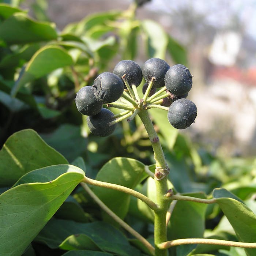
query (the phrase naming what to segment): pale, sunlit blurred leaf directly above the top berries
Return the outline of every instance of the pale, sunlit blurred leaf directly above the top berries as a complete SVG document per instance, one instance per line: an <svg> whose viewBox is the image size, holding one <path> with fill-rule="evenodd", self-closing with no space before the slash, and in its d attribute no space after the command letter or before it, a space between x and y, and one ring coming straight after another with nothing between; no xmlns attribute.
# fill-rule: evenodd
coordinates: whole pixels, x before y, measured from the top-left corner
<svg viewBox="0 0 256 256"><path fill-rule="evenodd" d="M150 58L165 59L168 35L163 28L153 20L143 20L142 30L147 37L147 54Z"/></svg>

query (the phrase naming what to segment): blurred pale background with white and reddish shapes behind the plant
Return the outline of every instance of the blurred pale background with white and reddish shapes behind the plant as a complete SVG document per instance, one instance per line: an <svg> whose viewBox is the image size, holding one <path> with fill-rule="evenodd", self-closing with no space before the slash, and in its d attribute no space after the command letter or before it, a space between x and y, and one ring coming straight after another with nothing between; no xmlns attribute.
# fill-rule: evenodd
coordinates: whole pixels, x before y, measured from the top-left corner
<svg viewBox="0 0 256 256"><path fill-rule="evenodd" d="M22 5L31 7L34 2L27 0ZM131 2L54 0L45 1L45 9L47 18L62 30L96 12L127 10ZM33 9L30 12L34 15ZM137 9L136 18L160 23L187 50L187 65L194 76L189 99L196 103L198 116L182 132L220 154L254 155L256 1L151 0ZM135 61L142 66L146 59L141 49Z"/></svg>

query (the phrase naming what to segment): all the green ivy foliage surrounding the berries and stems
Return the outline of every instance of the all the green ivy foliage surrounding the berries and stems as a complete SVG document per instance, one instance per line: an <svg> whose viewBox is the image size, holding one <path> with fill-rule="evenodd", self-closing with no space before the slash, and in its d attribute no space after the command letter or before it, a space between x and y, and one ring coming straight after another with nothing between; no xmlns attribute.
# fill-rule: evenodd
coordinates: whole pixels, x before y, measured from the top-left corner
<svg viewBox="0 0 256 256"><path fill-rule="evenodd" d="M114 59L138 57L141 41L147 59L164 59L168 53L174 63L186 64L185 49L158 23L136 19L133 4L126 11L87 16L59 32L46 21L45 1L33 5L37 19L20 9L22 1L9 2L0 3L0 255L151 255L79 185L86 173L155 202L157 188L144 172L155 167L144 126L136 117L129 125L119 123L113 135L97 138L74 98L99 72L112 71ZM216 200L209 205L177 201L168 239L255 242L255 160L224 161L178 134L166 112L152 109L151 117L170 167L169 188ZM154 212L146 204L126 193L92 189L153 243ZM255 255L255 249L169 249L173 256L245 253Z"/></svg>

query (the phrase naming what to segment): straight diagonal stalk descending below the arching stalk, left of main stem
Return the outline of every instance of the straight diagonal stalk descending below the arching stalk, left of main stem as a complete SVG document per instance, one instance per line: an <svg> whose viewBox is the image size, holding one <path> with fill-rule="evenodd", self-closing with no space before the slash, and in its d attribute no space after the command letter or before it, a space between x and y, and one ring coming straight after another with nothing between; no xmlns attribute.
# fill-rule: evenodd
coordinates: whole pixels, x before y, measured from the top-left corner
<svg viewBox="0 0 256 256"><path fill-rule="evenodd" d="M89 188L87 184L80 183L81 186L84 188L84 190L94 199L94 201L104 210L106 211L110 217L112 217L118 224L120 224L121 227L123 227L125 230L127 230L129 233L131 233L134 237L136 237L142 244L144 244L147 249L155 255L155 248L143 237L141 236L137 231L132 229L131 226L129 226L127 223L125 223L122 219L120 219L113 211L111 211L106 204L104 204L98 196L96 196L93 191Z"/></svg>

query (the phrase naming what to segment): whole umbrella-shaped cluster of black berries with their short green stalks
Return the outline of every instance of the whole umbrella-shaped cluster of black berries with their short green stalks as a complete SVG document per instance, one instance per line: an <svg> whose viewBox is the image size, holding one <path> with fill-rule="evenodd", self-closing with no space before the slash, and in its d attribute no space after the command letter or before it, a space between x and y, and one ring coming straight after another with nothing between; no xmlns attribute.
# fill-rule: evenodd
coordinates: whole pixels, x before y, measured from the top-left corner
<svg viewBox="0 0 256 256"><path fill-rule="evenodd" d="M140 99L136 87L143 78L146 83L142 89L144 97ZM112 134L118 121L157 105L168 110L167 118L173 127L185 129L197 115L196 105L187 99L191 87L192 75L184 65L170 67L164 60L152 58L141 69L132 60L122 60L113 73L103 72L92 86L82 87L76 94L75 103L78 111L88 116L88 127L97 136ZM123 103L115 104L118 100ZM109 109L103 108L104 104L126 111L114 116Z"/></svg>

